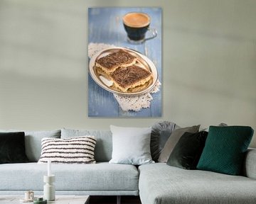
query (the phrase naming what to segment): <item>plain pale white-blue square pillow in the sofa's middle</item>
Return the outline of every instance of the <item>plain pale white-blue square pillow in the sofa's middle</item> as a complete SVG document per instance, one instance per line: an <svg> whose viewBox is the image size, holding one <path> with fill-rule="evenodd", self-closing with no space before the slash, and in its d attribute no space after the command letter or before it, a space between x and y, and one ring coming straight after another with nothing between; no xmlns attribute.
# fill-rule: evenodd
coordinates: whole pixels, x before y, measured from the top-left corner
<svg viewBox="0 0 256 204"><path fill-rule="evenodd" d="M150 154L151 128L123 128L110 125L113 140L114 164L154 163Z"/></svg>

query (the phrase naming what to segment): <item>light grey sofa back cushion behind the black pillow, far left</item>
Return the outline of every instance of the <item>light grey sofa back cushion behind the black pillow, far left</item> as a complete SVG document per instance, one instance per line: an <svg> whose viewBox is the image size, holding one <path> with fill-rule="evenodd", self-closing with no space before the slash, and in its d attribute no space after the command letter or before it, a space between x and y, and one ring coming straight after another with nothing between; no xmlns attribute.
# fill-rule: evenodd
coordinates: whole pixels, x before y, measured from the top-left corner
<svg viewBox="0 0 256 204"><path fill-rule="evenodd" d="M43 137L60 138L60 130L0 130L0 132L25 132L26 156L29 162L38 162L40 159Z"/></svg>

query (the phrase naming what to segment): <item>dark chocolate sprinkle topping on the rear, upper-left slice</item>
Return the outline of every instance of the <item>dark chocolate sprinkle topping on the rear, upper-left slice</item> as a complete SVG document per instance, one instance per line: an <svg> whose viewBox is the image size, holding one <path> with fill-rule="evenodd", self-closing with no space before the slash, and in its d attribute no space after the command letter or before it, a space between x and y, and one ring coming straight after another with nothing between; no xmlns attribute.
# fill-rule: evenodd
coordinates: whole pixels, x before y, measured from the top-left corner
<svg viewBox="0 0 256 204"><path fill-rule="evenodd" d="M119 50L118 52L113 52L110 55L97 59L96 62L102 67L112 69L113 67L119 67L122 64L132 63L135 58L136 57L130 55L128 52Z"/></svg>

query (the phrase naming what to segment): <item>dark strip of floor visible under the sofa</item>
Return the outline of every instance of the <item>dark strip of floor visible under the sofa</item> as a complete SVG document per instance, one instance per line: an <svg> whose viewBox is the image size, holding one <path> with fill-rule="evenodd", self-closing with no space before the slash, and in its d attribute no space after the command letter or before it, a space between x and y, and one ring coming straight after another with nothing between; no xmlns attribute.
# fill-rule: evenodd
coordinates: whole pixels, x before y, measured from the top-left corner
<svg viewBox="0 0 256 204"><path fill-rule="evenodd" d="M117 196L90 196L90 204L116 204ZM122 204L141 204L139 196L122 196Z"/></svg>

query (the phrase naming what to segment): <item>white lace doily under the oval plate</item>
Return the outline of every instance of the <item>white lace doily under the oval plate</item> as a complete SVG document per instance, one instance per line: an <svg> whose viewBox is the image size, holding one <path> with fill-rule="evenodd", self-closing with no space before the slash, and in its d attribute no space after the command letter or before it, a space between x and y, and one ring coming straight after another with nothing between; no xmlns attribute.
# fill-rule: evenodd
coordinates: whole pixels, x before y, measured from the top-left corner
<svg viewBox="0 0 256 204"><path fill-rule="evenodd" d="M91 58L100 50L115 47L114 45L108 45L105 43L90 43L88 45L88 56ZM139 96L120 96L118 94L113 94L114 98L117 99L119 106L122 111L140 111L142 108L149 108L150 101L153 99L151 94L156 93L160 90L161 83L159 80L156 81L156 85L151 89L150 93L142 94Z"/></svg>

